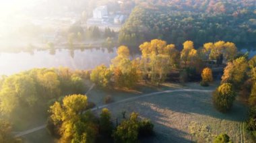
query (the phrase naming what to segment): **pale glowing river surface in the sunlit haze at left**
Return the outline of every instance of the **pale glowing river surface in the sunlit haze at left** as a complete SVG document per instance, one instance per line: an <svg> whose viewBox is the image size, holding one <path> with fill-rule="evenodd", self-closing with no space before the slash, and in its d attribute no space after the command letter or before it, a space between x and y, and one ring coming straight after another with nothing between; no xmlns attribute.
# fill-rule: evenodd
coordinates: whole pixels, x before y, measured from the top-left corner
<svg viewBox="0 0 256 143"><path fill-rule="evenodd" d="M65 66L72 69L92 69L100 64L110 64L116 56L113 50L82 49L82 50L44 50L32 53L0 53L0 75L11 75L31 68L51 68Z"/></svg>

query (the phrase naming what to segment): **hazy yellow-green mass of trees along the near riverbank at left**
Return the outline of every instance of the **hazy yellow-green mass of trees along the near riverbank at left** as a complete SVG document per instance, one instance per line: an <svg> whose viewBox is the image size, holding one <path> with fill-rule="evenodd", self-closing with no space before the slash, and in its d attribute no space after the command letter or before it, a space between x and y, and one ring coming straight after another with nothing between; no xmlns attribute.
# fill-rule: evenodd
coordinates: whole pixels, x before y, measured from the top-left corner
<svg viewBox="0 0 256 143"><path fill-rule="evenodd" d="M0 109L2 117L30 115L46 110L54 101L70 93L84 93L88 71L69 68L34 68L1 77Z"/></svg>

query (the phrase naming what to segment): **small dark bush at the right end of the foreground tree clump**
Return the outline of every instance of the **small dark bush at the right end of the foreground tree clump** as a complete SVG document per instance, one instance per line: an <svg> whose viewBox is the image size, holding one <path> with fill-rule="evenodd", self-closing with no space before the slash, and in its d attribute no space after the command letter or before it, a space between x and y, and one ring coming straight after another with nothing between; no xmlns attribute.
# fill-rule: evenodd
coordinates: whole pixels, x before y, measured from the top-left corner
<svg viewBox="0 0 256 143"><path fill-rule="evenodd" d="M153 128L154 124L150 120L143 120L139 124L139 137L151 136L154 133Z"/></svg>

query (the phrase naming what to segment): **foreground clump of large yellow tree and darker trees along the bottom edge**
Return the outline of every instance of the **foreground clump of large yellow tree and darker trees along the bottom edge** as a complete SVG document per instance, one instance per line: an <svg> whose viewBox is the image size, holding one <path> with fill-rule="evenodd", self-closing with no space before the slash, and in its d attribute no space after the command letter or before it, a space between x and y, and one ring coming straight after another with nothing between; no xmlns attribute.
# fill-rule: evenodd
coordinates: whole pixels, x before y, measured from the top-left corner
<svg viewBox="0 0 256 143"><path fill-rule="evenodd" d="M49 132L59 142L137 142L139 137L153 134L154 125L149 120L139 120L131 113L121 124L113 124L110 111L102 109L100 117L88 109L86 95L69 95L55 102L49 109L51 116L47 124ZM115 119L114 119L115 121Z"/></svg>

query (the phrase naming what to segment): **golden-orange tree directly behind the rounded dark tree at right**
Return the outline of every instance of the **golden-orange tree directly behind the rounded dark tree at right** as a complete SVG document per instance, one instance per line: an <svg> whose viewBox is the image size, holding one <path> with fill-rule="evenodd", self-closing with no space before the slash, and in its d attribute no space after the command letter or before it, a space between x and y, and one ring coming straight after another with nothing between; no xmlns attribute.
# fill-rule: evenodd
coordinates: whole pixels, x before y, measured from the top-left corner
<svg viewBox="0 0 256 143"><path fill-rule="evenodd" d="M228 65L224 68L222 83L232 83L235 87L240 87L247 79L248 69L249 66L245 57L236 58L232 62L228 62Z"/></svg>

